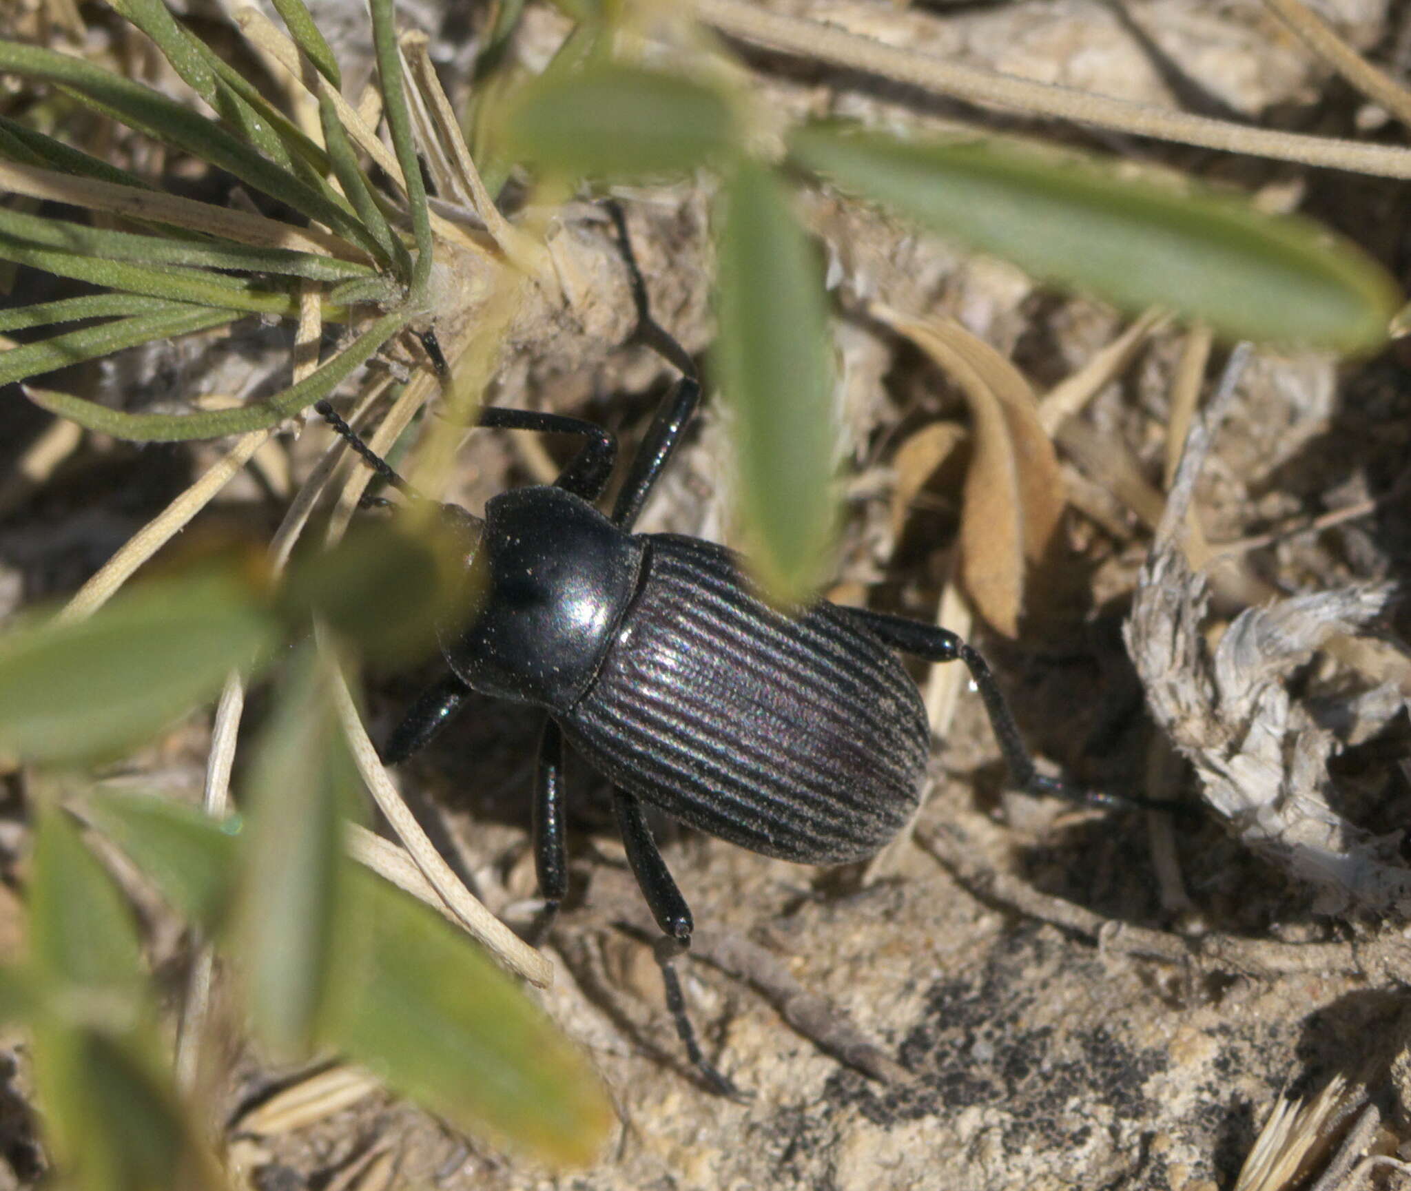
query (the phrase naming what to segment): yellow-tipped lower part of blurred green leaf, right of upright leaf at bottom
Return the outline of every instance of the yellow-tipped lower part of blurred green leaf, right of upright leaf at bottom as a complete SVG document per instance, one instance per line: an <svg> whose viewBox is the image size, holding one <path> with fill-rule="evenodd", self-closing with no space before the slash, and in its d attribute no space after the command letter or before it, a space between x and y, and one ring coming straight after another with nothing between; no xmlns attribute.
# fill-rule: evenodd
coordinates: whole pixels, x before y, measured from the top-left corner
<svg viewBox="0 0 1411 1191"><path fill-rule="evenodd" d="M439 914L361 871L350 883L339 912L358 945L327 1043L457 1127L593 1161L612 1111L583 1057Z"/></svg>

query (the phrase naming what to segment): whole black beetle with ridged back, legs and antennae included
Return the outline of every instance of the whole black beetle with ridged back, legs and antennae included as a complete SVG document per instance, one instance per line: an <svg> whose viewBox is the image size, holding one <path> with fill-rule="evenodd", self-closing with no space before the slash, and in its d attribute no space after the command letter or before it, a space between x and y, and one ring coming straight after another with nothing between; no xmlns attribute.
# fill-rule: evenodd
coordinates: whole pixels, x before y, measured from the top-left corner
<svg viewBox="0 0 1411 1191"><path fill-rule="evenodd" d="M422 748L471 690L545 708L533 847L545 910L567 892L562 738L614 783L628 861L663 931L656 947L667 1005L691 1063L718 1091L728 1078L701 1054L672 961L691 912L652 840L642 803L741 847L800 864L876 854L917 807L930 728L897 653L961 660L979 690L1015 785L1036 794L1130 802L1036 772L983 658L944 628L818 601L797 617L756 598L729 550L674 533L634 535L646 497L700 401L691 358L650 316L646 288L611 207L636 302L636 337L682 371L632 460L611 516L594 502L617 440L590 422L487 408L481 426L580 435L586 445L547 487L494 497L481 522L444 512L478 538L484 603L442 639L450 675L429 687L382 759ZM442 364L435 340L428 343ZM387 481L411 492L354 432L319 412Z"/></svg>

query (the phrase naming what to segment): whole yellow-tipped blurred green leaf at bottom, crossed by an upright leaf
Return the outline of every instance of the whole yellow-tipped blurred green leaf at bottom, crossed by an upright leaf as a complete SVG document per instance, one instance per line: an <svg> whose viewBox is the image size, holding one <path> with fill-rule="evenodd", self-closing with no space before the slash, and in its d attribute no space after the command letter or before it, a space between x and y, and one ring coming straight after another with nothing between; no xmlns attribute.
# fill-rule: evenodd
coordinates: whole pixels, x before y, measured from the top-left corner
<svg viewBox="0 0 1411 1191"><path fill-rule="evenodd" d="M209 873L234 864L234 838L158 799L103 794L89 813L176 905L209 905L223 885ZM601 1087L478 947L361 869L336 912L344 944L320 1017L330 1046L457 1126L552 1160L595 1156L612 1119Z"/></svg>

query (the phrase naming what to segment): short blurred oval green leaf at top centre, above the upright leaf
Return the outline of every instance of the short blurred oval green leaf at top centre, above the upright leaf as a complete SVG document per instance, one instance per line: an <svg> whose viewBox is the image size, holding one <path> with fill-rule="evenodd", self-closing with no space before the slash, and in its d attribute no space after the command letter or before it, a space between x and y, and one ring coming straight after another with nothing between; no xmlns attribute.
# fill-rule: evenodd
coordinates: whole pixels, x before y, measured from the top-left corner
<svg viewBox="0 0 1411 1191"><path fill-rule="evenodd" d="M614 181L683 174L727 157L729 104L680 75L591 61L546 71L505 113L508 148L542 169Z"/></svg>

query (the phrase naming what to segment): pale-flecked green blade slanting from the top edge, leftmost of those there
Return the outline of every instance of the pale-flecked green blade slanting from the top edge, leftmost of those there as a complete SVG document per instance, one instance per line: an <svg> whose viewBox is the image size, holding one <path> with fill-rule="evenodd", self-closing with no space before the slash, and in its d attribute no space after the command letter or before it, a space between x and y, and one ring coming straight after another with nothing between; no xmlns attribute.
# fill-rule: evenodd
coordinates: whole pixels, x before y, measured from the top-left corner
<svg viewBox="0 0 1411 1191"><path fill-rule="evenodd" d="M147 34L182 80L220 117L277 165L317 186L310 159L323 154L248 79L223 62L200 38L178 24L164 0L111 0L113 7ZM298 150L291 148L292 145ZM326 164L326 162L322 162Z"/></svg>

